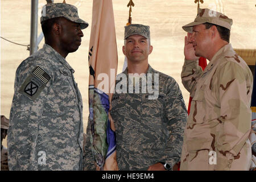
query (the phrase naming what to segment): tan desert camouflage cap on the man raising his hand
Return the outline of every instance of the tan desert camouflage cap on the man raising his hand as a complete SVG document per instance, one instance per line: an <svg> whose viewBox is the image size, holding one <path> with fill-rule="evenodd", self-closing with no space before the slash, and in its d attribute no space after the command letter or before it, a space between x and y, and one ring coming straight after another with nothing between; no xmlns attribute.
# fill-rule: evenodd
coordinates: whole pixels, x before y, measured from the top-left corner
<svg viewBox="0 0 256 182"><path fill-rule="evenodd" d="M213 11L210 9L199 9L199 13L197 14L194 22L188 23L184 25L182 28L186 32L192 33L193 26L207 22L217 24L218 26L225 27L228 28L228 30L231 30L233 20L228 18L228 16L217 11Z"/></svg>

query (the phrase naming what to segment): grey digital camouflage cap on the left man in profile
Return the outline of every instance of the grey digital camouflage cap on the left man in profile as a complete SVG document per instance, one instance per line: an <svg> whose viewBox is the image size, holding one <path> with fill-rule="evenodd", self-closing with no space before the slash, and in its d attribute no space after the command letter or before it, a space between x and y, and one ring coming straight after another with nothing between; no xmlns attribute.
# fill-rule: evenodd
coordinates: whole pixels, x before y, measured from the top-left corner
<svg viewBox="0 0 256 182"><path fill-rule="evenodd" d="M64 17L71 22L80 23L81 29L88 27L88 23L79 18L76 6L66 3L48 3L42 8L40 22L51 18Z"/></svg>

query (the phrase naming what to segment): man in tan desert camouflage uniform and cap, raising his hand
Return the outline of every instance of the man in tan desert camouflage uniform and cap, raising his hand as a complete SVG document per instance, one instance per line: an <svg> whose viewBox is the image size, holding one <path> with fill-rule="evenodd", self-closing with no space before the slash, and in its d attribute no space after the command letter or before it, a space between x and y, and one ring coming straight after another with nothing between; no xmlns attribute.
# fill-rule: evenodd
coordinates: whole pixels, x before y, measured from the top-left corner
<svg viewBox="0 0 256 182"><path fill-rule="evenodd" d="M181 78L193 97L185 127L181 170L248 170L251 162L249 67L229 44L232 19L199 9L183 26L185 62ZM210 62L202 71L197 56Z"/></svg>

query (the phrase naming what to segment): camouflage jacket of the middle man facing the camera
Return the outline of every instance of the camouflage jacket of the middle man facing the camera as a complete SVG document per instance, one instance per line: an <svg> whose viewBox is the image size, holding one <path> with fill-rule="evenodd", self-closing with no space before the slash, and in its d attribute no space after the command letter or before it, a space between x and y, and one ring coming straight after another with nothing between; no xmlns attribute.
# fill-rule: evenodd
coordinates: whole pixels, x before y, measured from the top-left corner
<svg viewBox="0 0 256 182"><path fill-rule="evenodd" d="M123 73L129 77L127 69ZM142 92L142 82L137 82L139 93L127 88L127 93L115 93L112 98L110 114L115 125L119 170L146 170L158 162L172 167L180 160L187 109L179 85L150 65L148 73L152 74L152 87L158 91L155 99L149 99L152 93L148 88Z"/></svg>

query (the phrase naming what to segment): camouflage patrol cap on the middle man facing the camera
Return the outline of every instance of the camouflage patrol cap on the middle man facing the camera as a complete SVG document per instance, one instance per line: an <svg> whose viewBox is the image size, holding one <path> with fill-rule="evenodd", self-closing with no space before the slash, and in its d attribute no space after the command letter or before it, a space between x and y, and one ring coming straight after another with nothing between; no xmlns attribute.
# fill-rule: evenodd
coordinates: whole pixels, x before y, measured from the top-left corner
<svg viewBox="0 0 256 182"><path fill-rule="evenodd" d="M146 39L150 39L150 26L143 24L129 24L129 26L125 26L125 39L131 35L141 35Z"/></svg>

